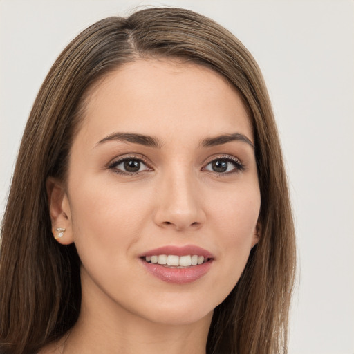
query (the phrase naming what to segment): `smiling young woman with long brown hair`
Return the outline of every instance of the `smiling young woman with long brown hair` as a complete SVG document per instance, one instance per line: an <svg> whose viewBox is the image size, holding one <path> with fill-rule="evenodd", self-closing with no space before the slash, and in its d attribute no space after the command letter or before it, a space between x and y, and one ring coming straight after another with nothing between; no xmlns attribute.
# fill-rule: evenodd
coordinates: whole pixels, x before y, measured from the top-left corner
<svg viewBox="0 0 354 354"><path fill-rule="evenodd" d="M4 353L286 352L294 230L250 53L176 8L84 30L30 113L2 235Z"/></svg>

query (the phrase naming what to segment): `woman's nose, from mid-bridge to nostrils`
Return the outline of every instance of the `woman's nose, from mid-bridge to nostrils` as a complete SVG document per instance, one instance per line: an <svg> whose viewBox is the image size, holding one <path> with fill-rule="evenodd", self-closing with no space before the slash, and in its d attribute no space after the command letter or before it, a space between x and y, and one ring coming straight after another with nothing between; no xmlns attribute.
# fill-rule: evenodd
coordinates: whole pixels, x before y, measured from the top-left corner
<svg viewBox="0 0 354 354"><path fill-rule="evenodd" d="M196 230L206 220L198 183L193 176L166 176L159 183L154 222L159 227L176 231Z"/></svg>

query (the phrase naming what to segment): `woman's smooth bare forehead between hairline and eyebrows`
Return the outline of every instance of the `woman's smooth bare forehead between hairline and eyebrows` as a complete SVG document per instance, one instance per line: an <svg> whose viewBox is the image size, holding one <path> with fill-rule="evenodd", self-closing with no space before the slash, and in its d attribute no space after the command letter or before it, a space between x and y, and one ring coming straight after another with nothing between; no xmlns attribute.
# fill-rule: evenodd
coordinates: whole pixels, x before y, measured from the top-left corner
<svg viewBox="0 0 354 354"><path fill-rule="evenodd" d="M113 131L173 138L188 131L235 130L252 139L248 112L222 75L176 59L139 59L97 82L86 96L80 133L98 141Z"/></svg>

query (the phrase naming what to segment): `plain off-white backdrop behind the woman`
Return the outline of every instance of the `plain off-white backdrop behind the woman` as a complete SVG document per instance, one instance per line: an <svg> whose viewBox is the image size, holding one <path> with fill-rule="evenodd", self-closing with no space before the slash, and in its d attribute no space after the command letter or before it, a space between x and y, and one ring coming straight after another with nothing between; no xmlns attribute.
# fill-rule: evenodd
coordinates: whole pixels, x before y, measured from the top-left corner
<svg viewBox="0 0 354 354"><path fill-rule="evenodd" d="M0 1L0 215L24 124L57 55L94 21L146 5L212 17L261 66L297 228L289 353L353 354L353 1Z"/></svg>

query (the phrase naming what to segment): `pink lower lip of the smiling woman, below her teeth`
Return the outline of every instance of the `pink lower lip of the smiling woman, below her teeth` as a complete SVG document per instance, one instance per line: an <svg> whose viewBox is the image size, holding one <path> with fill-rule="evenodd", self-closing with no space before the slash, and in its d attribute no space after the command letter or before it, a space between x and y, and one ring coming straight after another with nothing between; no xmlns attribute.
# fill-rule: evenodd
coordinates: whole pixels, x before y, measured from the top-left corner
<svg viewBox="0 0 354 354"><path fill-rule="evenodd" d="M167 283L186 284L192 283L203 277L209 271L212 260L189 268L168 268L160 264L147 263L141 260L145 268L158 279Z"/></svg>

